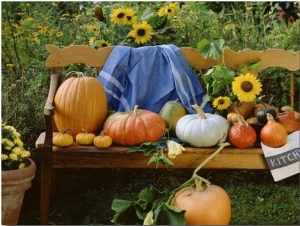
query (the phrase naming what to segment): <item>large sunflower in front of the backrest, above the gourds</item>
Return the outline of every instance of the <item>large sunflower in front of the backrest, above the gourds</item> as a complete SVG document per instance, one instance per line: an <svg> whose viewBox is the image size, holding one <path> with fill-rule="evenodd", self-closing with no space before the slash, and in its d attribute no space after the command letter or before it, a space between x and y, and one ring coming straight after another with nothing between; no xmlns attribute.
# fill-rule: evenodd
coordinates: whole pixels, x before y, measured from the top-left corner
<svg viewBox="0 0 300 226"><path fill-rule="evenodd" d="M254 101L256 95L262 91L260 81L250 73L241 74L232 82L232 91L237 95L239 101Z"/></svg>

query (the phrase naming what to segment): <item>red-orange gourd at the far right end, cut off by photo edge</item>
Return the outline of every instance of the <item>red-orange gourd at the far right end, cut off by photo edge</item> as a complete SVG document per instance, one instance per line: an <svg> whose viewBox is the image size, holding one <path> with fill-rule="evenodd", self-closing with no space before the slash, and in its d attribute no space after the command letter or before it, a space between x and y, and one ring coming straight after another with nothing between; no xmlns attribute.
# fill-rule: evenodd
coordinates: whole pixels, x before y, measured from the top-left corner
<svg viewBox="0 0 300 226"><path fill-rule="evenodd" d="M278 122L284 126L287 133L290 134L300 129L300 124L295 117L293 109L290 106L281 108L284 113L278 114Z"/></svg>

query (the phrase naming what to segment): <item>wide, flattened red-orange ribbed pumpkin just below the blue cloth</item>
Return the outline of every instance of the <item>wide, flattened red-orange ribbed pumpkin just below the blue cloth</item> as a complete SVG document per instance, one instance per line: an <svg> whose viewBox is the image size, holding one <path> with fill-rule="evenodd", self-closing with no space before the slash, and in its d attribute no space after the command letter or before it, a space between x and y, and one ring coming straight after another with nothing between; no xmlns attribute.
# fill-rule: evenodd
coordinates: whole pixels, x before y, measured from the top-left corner
<svg viewBox="0 0 300 226"><path fill-rule="evenodd" d="M113 113L103 126L114 143L128 146L157 141L165 129L166 123L159 114L138 109L138 105L130 111Z"/></svg>

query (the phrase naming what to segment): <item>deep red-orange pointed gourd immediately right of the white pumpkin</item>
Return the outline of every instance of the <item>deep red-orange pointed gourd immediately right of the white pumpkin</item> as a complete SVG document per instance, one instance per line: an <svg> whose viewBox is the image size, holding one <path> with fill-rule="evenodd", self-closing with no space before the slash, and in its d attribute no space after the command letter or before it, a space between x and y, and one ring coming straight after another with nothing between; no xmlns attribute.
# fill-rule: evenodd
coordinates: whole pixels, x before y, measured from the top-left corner
<svg viewBox="0 0 300 226"><path fill-rule="evenodd" d="M228 139L237 148L247 148L256 141L256 132L240 115L238 123L234 124L228 132Z"/></svg>

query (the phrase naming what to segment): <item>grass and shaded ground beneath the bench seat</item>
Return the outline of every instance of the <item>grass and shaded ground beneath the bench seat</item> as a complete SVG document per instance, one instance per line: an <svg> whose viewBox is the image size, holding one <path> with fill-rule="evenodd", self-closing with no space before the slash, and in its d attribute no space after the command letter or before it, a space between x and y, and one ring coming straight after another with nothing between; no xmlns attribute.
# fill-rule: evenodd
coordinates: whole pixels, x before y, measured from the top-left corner
<svg viewBox="0 0 300 226"><path fill-rule="evenodd" d="M192 169L61 169L51 224L112 224L115 198L135 200L145 187L175 187ZM231 225L299 225L299 175L274 182L268 170L201 170L232 202ZM27 191L19 224L39 224L39 176Z"/></svg>

